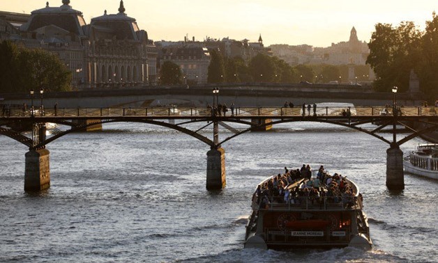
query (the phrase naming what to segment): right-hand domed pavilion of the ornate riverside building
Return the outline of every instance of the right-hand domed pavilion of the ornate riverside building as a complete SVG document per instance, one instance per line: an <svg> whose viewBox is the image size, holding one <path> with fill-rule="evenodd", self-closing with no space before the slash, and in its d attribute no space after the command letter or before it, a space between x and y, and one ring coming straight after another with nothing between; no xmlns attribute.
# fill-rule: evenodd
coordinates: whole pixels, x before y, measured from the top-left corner
<svg viewBox="0 0 438 263"><path fill-rule="evenodd" d="M91 19L87 34L91 74L97 86L128 86L153 81L148 74L147 54L152 43L146 31L138 28L135 19L126 15L123 1L120 1L119 13L109 15L105 10L104 15ZM151 71L156 72L156 64L150 66Z"/></svg>

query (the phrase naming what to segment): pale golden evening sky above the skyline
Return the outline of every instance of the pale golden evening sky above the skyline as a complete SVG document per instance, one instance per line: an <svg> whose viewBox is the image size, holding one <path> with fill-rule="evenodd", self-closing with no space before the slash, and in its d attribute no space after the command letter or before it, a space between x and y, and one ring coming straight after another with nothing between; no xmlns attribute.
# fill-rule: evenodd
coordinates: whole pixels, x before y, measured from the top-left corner
<svg viewBox="0 0 438 263"><path fill-rule="evenodd" d="M45 7L47 0L0 0L0 10L31 13ZM61 6L61 0L48 0ZM92 17L118 13L119 0L70 0L70 6ZM377 23L398 25L413 21L424 29L432 19L434 0L124 0L126 14L137 19L140 29L153 40L196 40L210 38L257 41L264 45L308 44L328 47L349 40L352 27L358 39L368 42Z"/></svg>

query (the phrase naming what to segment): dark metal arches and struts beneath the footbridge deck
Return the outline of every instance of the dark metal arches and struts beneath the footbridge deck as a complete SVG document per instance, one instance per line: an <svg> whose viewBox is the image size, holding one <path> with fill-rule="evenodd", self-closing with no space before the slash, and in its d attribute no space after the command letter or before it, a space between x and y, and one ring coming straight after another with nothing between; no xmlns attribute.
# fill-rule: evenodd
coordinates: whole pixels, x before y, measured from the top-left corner
<svg viewBox="0 0 438 263"><path fill-rule="evenodd" d="M272 118L272 122L267 123L260 123L260 122L252 122L251 120L260 120L260 119L266 119L266 118ZM167 127L169 129L174 129L176 131L181 131L183 134L187 134L189 136L192 136L194 138L197 138L199 141L202 141L203 143L206 143L211 148L219 148L220 145L223 143L231 140L232 138L235 138L236 136L240 136L241 134L245 134L246 132L250 131L254 127L265 127L266 125L277 125L280 123L287 123L287 122L323 122L323 123L329 123L331 125L339 125L342 127L348 127L350 129L356 129L357 131L364 132L365 134L369 134L370 136L374 136L375 138L378 138L381 141L384 141L385 143L388 143L389 145L394 145L394 143L398 146L402 145L403 143L406 143L407 141L411 140L412 138L415 138L417 136L421 136L422 134L426 134L430 131L434 131L435 129L438 129L438 116L428 116L428 117L411 117L411 116L400 116L397 117L395 120L391 116L373 116L364 118L361 117L352 117L352 118L327 118L326 116L295 116L295 117L283 117L278 118L276 116L252 116L248 118L248 116L245 117L233 117L233 116L205 116L205 117L196 117L196 118L159 118L159 119L153 119L153 118L130 118L130 117L120 117L120 118L89 118L89 120L96 120L91 121L88 123L84 123L82 125L79 125L75 122L70 121L71 118L47 118L45 121L47 122L53 122L60 125L68 125L71 127L71 129L61 131L54 129L55 132L52 133L52 136L50 138L43 138L43 141L36 141L33 138L29 138L28 136L25 136L22 134L21 131L15 130L12 128L6 128L6 126L9 125L9 123L6 121L1 122L0 125L0 134L4 136L8 136L10 138L13 138L15 141L18 141L24 145L27 145L30 150L36 150L45 148L45 145L48 143L51 143L52 141L56 140L57 138L60 138L66 134L70 134L75 131L83 130L86 127L93 126L93 125L99 125L104 123L111 123L111 122L139 122L139 123L147 123L151 125L158 125L161 127ZM171 120L181 120L179 123L174 123L174 121ZM38 122L35 120L27 120L33 127L38 126ZM167 122L166 122L167 121ZM409 126L410 122L421 122L423 124L423 127L421 129L414 129L413 127ZM192 124L195 122L207 122L206 125L203 125L199 129L192 130L188 129L186 127L183 127L183 125ZM228 125L227 123L235 123L240 125L248 125L250 127L246 129L235 129L232 126ZM384 127L391 126L395 122L396 125L401 125L402 127L405 127L407 131L411 131L411 134L408 136L405 136L405 138L400 139L397 142L392 142L383 136L379 135L378 133L384 129ZM377 127L374 129L365 129L361 127L361 125L369 124L369 123L378 123ZM213 140L207 138L206 136L199 134L199 131L202 131L202 129L205 129L206 127L209 127L211 125L220 125L222 127L225 127L226 129L229 129L229 131L232 131L232 135L228 136L227 138L223 139L222 141L216 141L214 138ZM49 129L47 129L49 130ZM387 129L386 131L390 131L391 129ZM392 131L396 132L396 131ZM214 137L214 134L213 134Z"/></svg>

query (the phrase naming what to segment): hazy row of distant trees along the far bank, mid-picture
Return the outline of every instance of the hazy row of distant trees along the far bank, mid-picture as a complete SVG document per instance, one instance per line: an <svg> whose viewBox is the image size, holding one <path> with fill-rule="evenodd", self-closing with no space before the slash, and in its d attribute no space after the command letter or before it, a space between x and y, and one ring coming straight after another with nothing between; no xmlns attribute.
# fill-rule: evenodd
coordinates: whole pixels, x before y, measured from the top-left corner
<svg viewBox="0 0 438 263"><path fill-rule="evenodd" d="M347 83L347 65L296 65L291 66L276 56L257 54L249 63L240 57L224 58L216 49L210 51L208 83ZM369 66L356 65L357 81L368 81ZM179 65L165 61L160 69L160 83L164 85L182 84L183 72Z"/></svg>

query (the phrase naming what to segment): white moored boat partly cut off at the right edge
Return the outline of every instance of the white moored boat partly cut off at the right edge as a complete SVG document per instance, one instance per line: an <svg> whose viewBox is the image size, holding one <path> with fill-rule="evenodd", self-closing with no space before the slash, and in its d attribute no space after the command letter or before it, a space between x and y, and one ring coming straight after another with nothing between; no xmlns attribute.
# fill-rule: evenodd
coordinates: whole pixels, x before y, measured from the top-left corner
<svg viewBox="0 0 438 263"><path fill-rule="evenodd" d="M403 158L405 172L438 180L438 144L421 144Z"/></svg>

